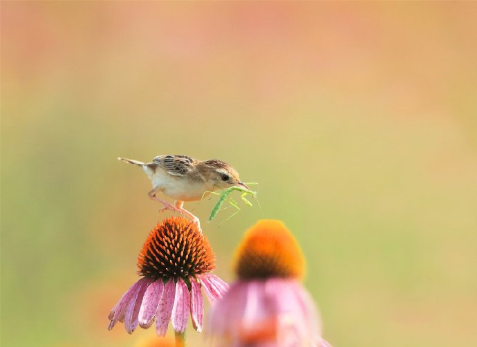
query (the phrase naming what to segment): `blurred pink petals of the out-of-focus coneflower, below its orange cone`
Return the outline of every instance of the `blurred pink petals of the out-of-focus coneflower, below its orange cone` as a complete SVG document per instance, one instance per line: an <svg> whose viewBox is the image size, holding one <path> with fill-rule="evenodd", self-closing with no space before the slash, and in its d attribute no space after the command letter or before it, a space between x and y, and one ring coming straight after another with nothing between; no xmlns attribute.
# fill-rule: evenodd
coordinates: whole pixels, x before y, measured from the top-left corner
<svg viewBox="0 0 477 347"><path fill-rule="evenodd" d="M237 281L212 308L212 335L234 346L314 346L321 341L314 303L294 279Z"/></svg>

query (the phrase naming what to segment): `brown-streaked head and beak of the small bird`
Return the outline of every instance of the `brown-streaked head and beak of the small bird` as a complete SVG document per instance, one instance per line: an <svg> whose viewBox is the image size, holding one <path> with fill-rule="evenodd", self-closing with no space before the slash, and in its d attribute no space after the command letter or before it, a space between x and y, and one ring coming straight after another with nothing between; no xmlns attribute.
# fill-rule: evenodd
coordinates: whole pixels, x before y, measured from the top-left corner
<svg viewBox="0 0 477 347"><path fill-rule="evenodd" d="M220 189L230 187L241 187L249 189L245 183L241 182L236 169L221 160L211 159L201 162L203 165L203 176L205 179Z"/></svg>

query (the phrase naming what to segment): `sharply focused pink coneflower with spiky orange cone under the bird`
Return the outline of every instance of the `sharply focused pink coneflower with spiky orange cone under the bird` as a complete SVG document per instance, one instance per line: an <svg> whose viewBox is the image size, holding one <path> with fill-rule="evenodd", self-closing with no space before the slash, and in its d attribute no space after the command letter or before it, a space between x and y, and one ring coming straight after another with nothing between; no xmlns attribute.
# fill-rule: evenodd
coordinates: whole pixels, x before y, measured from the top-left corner
<svg viewBox="0 0 477 347"><path fill-rule="evenodd" d="M166 218L147 236L138 256L142 276L109 313L109 330L118 321L130 334L138 326L149 328L156 319L156 333L165 336L169 321L176 335L183 334L189 319L203 328L202 289L211 303L228 285L212 274L215 257L207 238L185 218Z"/></svg>

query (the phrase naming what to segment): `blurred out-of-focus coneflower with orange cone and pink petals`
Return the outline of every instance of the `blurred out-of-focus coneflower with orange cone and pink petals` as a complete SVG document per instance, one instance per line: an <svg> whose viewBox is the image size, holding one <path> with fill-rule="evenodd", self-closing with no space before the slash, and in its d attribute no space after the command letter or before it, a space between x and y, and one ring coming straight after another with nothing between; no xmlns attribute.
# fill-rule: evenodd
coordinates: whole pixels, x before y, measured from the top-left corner
<svg viewBox="0 0 477 347"><path fill-rule="evenodd" d="M219 346L329 346L310 294L301 285L305 262L280 221L259 221L236 252L238 280L212 308L210 332Z"/></svg>

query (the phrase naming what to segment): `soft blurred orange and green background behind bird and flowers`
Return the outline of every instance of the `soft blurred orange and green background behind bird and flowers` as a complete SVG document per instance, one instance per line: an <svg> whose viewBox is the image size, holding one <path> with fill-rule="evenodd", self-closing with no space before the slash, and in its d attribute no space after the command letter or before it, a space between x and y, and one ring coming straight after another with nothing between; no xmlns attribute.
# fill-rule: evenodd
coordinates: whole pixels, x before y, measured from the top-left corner
<svg viewBox="0 0 477 347"><path fill-rule="evenodd" d="M106 330L162 218L116 157L167 153L260 183L261 209L203 222L224 279L245 229L279 218L335 346L477 346L476 18L475 2L2 1L2 346L153 336Z"/></svg>

